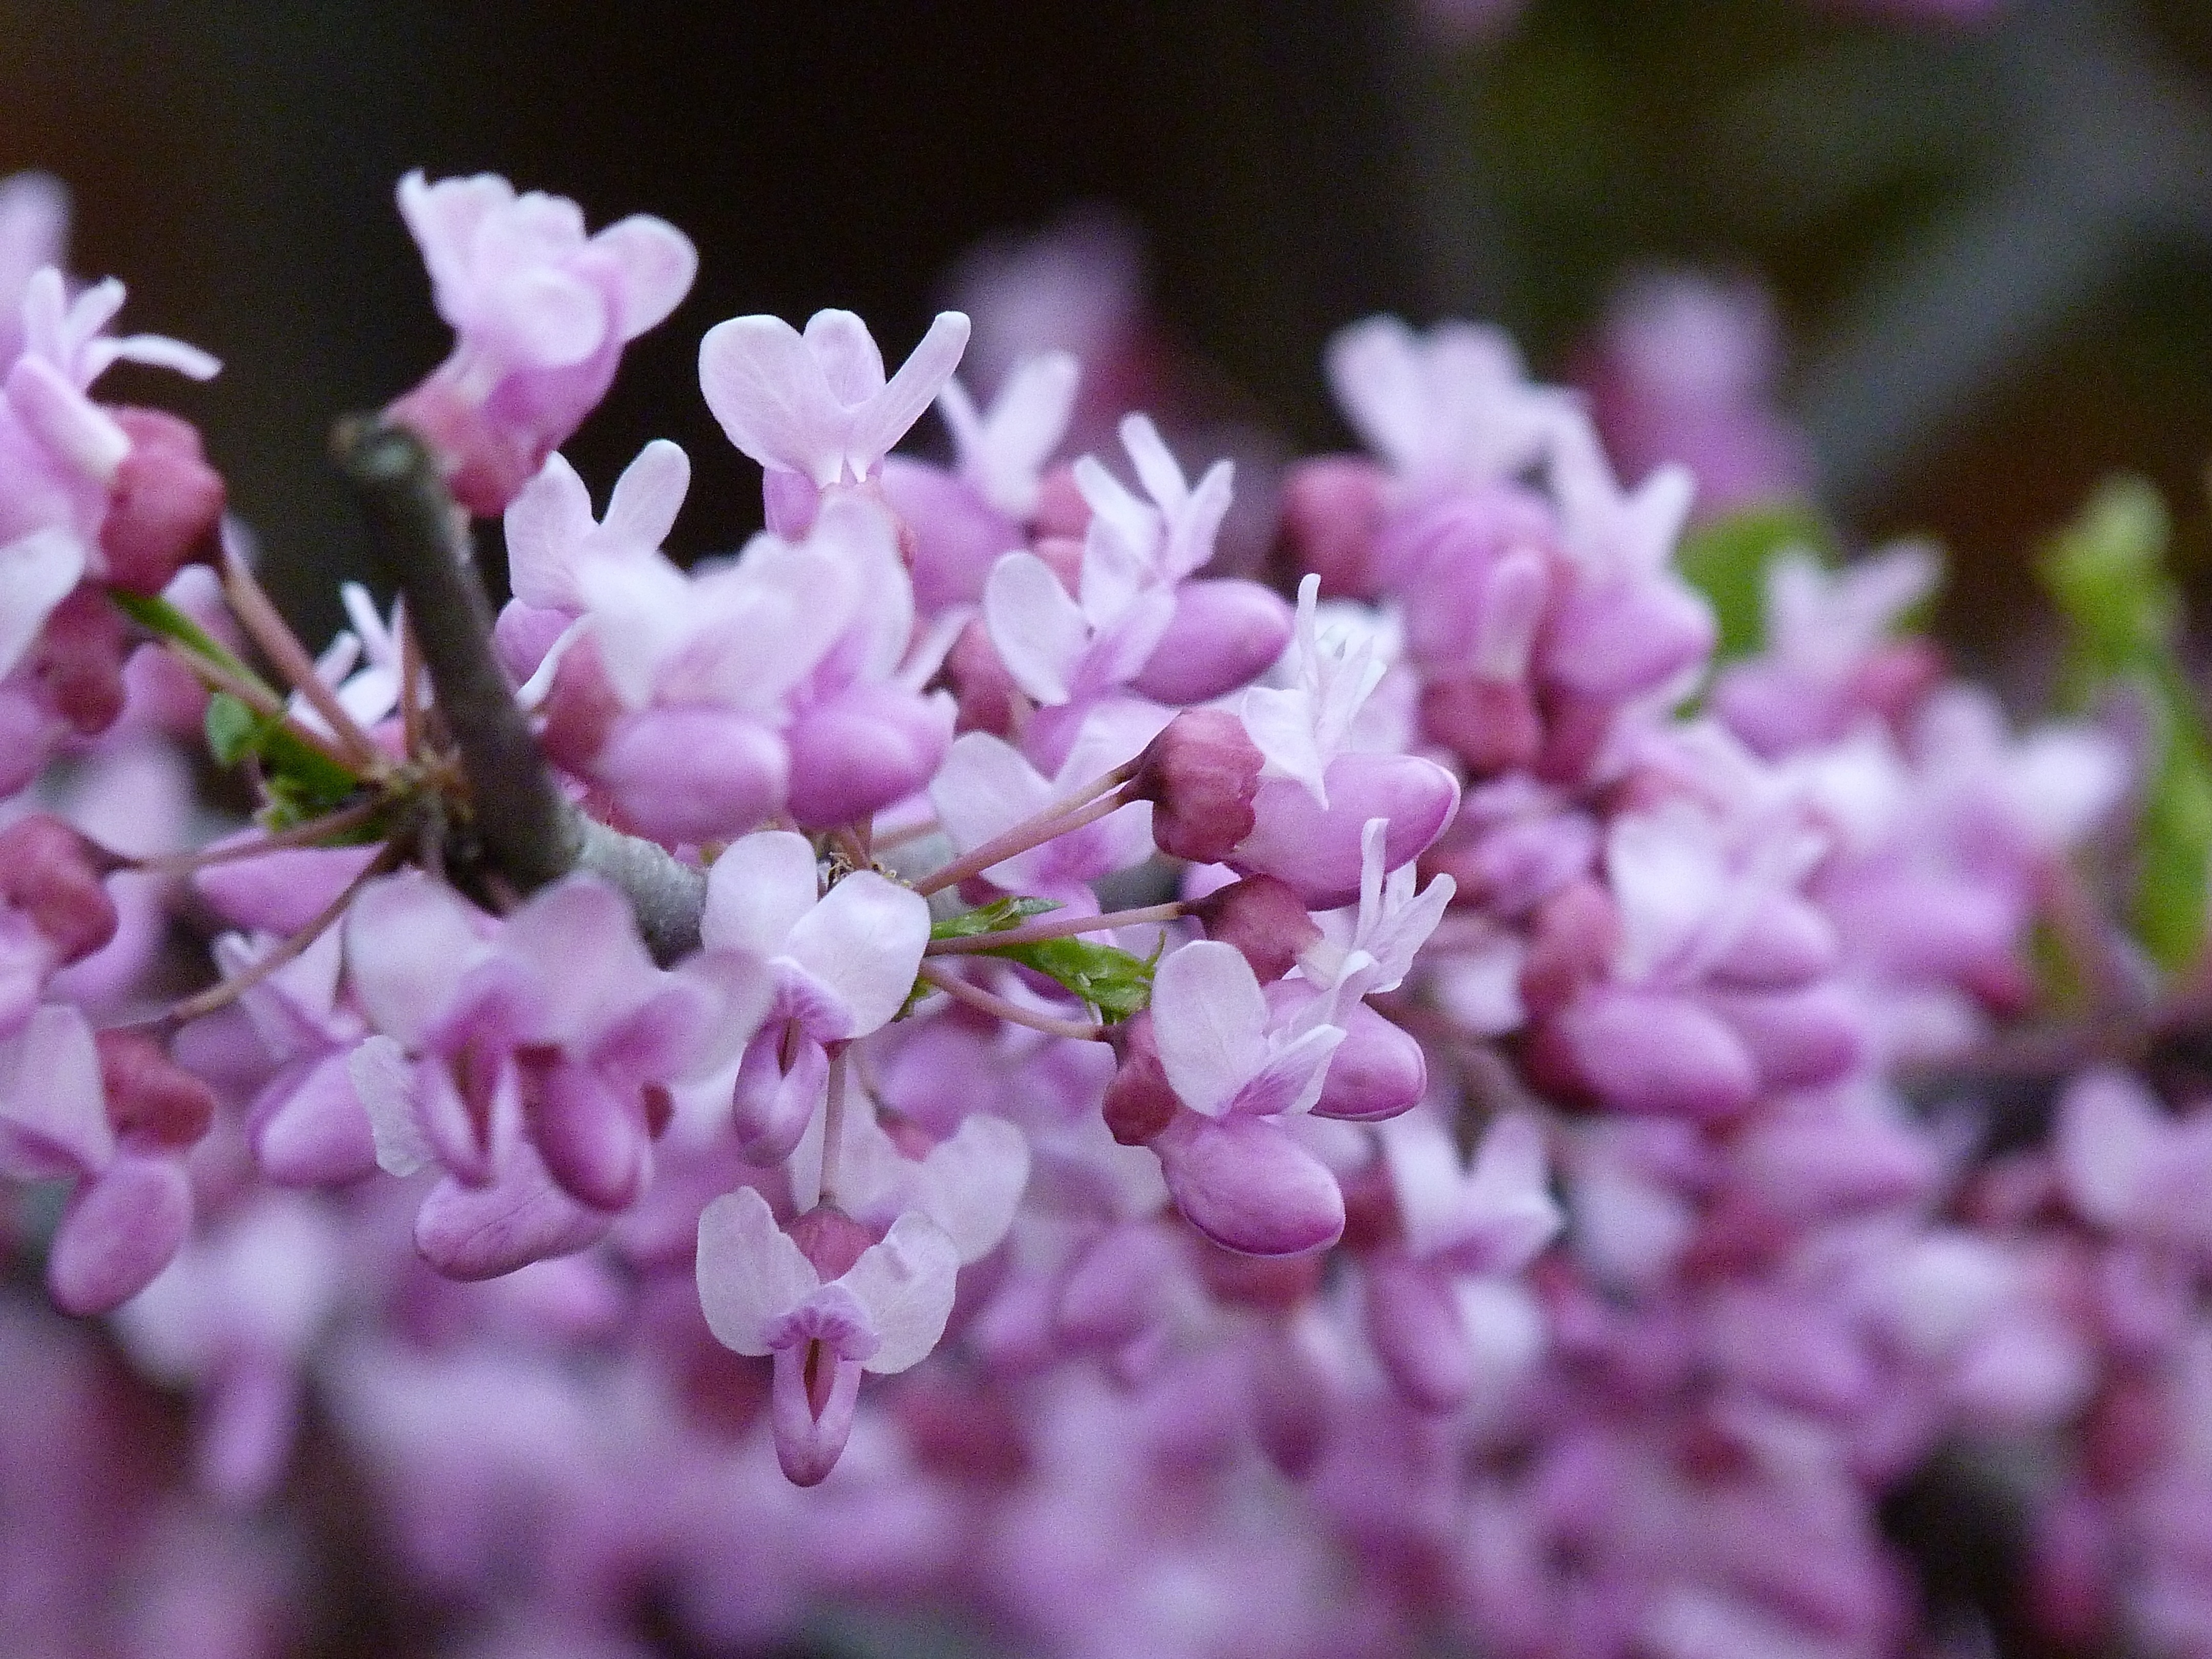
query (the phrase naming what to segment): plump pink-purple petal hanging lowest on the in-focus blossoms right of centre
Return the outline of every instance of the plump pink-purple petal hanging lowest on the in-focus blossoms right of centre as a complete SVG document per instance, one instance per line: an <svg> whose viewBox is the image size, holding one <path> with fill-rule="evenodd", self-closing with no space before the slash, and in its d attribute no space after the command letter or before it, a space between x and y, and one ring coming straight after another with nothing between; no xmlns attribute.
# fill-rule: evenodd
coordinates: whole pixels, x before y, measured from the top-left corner
<svg viewBox="0 0 2212 1659"><path fill-rule="evenodd" d="M1329 1166L1272 1119L1181 1113L1152 1150L1175 1208L1225 1250L1294 1256L1345 1230L1345 1194Z"/></svg>

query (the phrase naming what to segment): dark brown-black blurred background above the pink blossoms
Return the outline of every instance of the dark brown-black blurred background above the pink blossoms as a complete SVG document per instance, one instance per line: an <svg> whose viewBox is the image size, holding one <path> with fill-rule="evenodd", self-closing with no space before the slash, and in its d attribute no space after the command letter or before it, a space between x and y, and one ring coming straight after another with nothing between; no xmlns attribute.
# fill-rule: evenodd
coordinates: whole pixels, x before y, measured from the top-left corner
<svg viewBox="0 0 2212 1659"><path fill-rule="evenodd" d="M445 330L392 208L500 170L692 234L690 301L568 445L595 487L692 451L679 553L759 522L697 396L739 312L858 310L902 354L993 230L1113 204L1166 330L1301 447L1371 310L1509 325L1559 372L1621 272L1752 272L1829 504L1955 553L1984 657L2090 482L2161 482L2192 568L2212 453L2212 7L2013 0L1971 27L1838 0L1531 0L1495 38L1369 0L513 4L0 0L0 173L75 190L126 325L226 361L124 385L197 416L310 635L358 573L336 411Z"/></svg>

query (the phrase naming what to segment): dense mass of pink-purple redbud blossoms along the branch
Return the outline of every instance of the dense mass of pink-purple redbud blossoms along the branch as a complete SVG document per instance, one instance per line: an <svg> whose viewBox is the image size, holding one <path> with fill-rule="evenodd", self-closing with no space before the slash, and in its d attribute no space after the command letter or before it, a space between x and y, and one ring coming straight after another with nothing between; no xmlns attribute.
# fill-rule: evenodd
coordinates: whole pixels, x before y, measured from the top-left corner
<svg viewBox="0 0 2212 1659"><path fill-rule="evenodd" d="M690 243L400 208L453 354L341 442L427 542L314 659L190 427L91 398L215 365L0 199L11 1250L192 1398L206 1502L88 1540L62 1495L144 1453L55 1420L24 1650L272 1652L239 1515L310 1400L456 1652L927 1597L1068 1655L1876 1659L1927 1650L1880 1502L1962 1444L2086 1447L2037 1619L2208 1650L2203 1119L2086 1071L2022 1152L1907 1093L2033 1006L2039 922L2104 938L2070 856L2132 779L1898 633L1924 551L1774 560L1717 666L1692 471L1378 319L1327 363L1371 453L1274 502L1292 602L1208 575L1230 462L1141 414L1066 458L1075 356L969 389L964 314L887 374L827 310L706 334L768 529L681 568L681 449L595 513L557 447ZM1801 469L1741 323L1646 296L1597 400L1730 500ZM891 453L931 407L949 462ZM431 611L462 515L495 619ZM195 728L263 805L188 849ZM84 1387L38 1329L11 1396ZM69 1601L95 1555L131 1617Z"/></svg>

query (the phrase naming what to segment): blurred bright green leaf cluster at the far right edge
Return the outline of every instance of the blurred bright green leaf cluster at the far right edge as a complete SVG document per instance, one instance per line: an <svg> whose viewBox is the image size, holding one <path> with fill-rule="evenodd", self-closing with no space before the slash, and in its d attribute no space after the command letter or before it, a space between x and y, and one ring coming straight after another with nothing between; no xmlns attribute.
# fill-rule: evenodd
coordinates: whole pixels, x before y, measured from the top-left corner
<svg viewBox="0 0 2212 1659"><path fill-rule="evenodd" d="M2128 697L2150 723L2128 922L2159 967L2179 971L2205 933L2212 741L2181 661L2168 540L2157 489L2115 478L2051 540L2039 573L2068 624L2059 701L2088 710Z"/></svg>

